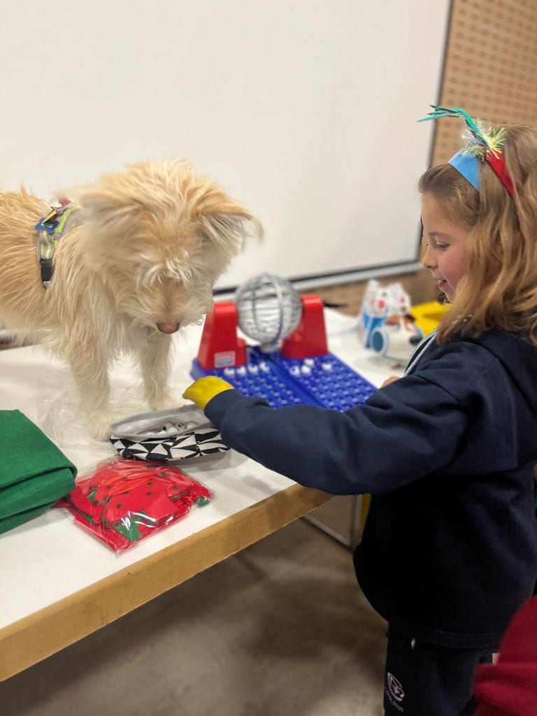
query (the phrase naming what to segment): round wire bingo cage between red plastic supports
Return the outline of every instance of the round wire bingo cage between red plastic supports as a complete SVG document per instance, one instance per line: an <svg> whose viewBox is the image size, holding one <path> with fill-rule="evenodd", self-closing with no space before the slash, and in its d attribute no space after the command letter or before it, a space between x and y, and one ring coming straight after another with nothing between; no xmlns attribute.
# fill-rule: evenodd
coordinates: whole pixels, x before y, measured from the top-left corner
<svg viewBox="0 0 537 716"><path fill-rule="evenodd" d="M274 274L261 274L243 284L235 294L238 325L260 342L265 353L276 351L302 317L299 294L289 281Z"/></svg>

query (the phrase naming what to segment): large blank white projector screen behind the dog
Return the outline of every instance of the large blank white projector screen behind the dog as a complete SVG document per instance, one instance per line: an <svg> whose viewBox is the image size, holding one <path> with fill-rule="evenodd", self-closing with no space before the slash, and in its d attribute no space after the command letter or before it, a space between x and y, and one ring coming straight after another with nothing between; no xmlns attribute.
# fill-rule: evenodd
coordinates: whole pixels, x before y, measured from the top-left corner
<svg viewBox="0 0 537 716"><path fill-rule="evenodd" d="M188 158L261 219L221 289L417 258L448 0L9 0L0 188Z"/></svg>

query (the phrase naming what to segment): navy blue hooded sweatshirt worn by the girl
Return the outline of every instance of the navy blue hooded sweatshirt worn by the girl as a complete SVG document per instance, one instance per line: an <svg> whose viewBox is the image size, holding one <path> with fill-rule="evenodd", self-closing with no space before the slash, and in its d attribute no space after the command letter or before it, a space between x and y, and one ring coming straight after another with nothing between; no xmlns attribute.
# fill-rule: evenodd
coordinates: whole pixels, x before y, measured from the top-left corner
<svg viewBox="0 0 537 716"><path fill-rule="evenodd" d="M492 330L430 342L359 405L276 410L235 390L205 408L231 447L301 485L371 493L354 567L404 634L495 647L537 579L537 348Z"/></svg>

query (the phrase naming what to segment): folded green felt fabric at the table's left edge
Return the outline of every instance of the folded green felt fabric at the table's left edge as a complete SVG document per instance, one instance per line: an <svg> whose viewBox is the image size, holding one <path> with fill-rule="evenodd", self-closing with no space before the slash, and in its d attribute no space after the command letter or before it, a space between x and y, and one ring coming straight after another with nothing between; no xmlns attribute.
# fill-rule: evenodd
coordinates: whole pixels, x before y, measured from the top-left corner
<svg viewBox="0 0 537 716"><path fill-rule="evenodd" d="M0 533L74 489L77 468L19 410L0 410L0 457Z"/></svg>

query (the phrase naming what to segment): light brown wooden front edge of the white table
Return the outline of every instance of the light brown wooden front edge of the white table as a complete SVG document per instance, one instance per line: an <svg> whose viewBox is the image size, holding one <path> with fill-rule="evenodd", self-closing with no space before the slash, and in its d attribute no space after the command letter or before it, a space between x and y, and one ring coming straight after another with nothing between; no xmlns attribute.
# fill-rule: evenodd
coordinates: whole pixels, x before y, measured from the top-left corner
<svg viewBox="0 0 537 716"><path fill-rule="evenodd" d="M0 681L306 515L330 497L291 485L0 629Z"/></svg>

